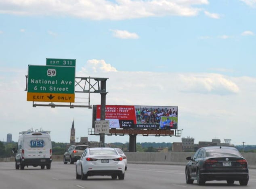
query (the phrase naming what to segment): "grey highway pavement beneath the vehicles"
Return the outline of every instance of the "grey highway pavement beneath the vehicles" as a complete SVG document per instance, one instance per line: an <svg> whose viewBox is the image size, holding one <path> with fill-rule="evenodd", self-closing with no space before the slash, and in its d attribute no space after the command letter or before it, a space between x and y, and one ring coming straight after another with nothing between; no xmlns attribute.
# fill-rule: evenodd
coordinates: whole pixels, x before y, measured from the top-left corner
<svg viewBox="0 0 256 189"><path fill-rule="evenodd" d="M124 180L112 180L110 176L88 177L76 180L76 164L52 162L51 169L25 167L15 170L15 162L0 162L0 189L227 189L245 188L238 181L227 185L226 181L208 181L205 186L185 182L185 166L159 164L128 164ZM247 189L256 188L256 169L249 170Z"/></svg>

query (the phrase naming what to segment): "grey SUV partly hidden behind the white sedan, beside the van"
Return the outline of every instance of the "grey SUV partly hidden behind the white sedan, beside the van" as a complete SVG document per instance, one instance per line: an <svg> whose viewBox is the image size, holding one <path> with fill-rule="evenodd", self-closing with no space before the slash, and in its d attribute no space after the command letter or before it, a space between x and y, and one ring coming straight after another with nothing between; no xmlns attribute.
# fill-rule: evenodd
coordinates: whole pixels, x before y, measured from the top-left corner
<svg viewBox="0 0 256 189"><path fill-rule="evenodd" d="M80 158L86 148L90 148L90 146L82 144L69 146L69 149L67 150L67 152L65 152L63 156L64 164L67 164L67 162L70 162L70 164L76 162L76 160Z"/></svg>

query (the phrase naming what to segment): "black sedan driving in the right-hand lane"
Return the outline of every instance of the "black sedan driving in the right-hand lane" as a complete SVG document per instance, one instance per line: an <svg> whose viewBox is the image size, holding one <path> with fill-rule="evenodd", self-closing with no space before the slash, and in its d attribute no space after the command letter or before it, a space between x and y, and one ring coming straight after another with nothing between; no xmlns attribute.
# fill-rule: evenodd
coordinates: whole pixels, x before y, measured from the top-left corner
<svg viewBox="0 0 256 189"><path fill-rule="evenodd" d="M239 151L230 146L208 146L199 148L193 157L187 157L186 183L204 185L206 181L223 181L247 185L249 172L247 161Z"/></svg>

